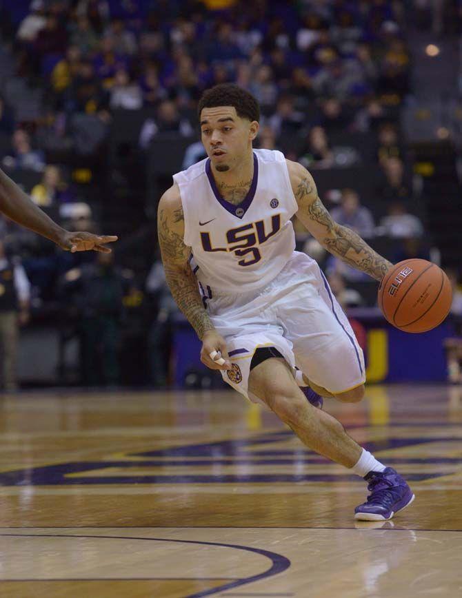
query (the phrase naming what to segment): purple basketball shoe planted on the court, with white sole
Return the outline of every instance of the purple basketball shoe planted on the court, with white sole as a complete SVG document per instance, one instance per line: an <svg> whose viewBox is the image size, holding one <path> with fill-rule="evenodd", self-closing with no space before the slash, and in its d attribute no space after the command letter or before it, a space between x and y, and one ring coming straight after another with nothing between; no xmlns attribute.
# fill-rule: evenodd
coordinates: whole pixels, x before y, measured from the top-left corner
<svg viewBox="0 0 462 598"><path fill-rule="evenodd" d="M384 471L370 471L364 478L370 495L368 500L354 509L354 519L383 521L409 506L415 496L412 490L392 467Z"/></svg>

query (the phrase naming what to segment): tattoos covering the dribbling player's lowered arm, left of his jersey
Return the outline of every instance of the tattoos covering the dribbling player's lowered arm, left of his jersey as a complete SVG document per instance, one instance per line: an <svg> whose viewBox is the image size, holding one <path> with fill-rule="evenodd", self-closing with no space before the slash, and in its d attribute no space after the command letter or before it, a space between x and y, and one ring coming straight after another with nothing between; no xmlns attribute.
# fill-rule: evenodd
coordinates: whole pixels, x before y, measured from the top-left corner
<svg viewBox="0 0 462 598"><path fill-rule="evenodd" d="M183 220L183 209L175 210L173 219L176 223ZM187 249L183 238L169 227L168 215L163 209L159 210L158 230L167 284L179 309L188 318L197 336L202 338L214 326L203 307L196 277L185 257Z"/></svg>

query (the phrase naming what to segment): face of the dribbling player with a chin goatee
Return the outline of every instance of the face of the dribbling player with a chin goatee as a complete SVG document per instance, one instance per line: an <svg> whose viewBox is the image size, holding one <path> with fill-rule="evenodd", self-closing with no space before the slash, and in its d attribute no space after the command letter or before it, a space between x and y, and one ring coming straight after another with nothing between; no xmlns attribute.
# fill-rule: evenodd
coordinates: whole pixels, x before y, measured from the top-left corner
<svg viewBox="0 0 462 598"><path fill-rule="evenodd" d="M259 123L236 114L234 106L204 108L201 112L201 138L212 165L219 172L241 163L257 136Z"/></svg>

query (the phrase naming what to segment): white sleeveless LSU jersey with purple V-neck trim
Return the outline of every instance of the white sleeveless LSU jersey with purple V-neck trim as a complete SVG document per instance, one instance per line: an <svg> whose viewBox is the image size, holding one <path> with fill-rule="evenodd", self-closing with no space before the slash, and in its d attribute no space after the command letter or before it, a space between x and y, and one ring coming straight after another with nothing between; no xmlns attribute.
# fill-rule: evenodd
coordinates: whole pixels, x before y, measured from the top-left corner
<svg viewBox="0 0 462 598"><path fill-rule="evenodd" d="M254 149L254 177L239 205L221 197L207 158L174 175L201 289L246 292L267 285L295 249L298 206L281 152Z"/></svg>

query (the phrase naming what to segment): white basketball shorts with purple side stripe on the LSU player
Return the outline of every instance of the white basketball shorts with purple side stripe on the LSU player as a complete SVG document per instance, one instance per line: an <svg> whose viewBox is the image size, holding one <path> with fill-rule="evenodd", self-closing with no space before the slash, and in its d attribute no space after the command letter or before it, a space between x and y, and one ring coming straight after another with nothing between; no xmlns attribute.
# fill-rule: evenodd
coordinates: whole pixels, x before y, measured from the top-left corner
<svg viewBox="0 0 462 598"><path fill-rule="evenodd" d="M226 340L232 369L223 380L253 402L248 392L250 362L259 347L275 347L294 369L332 394L365 382L364 356L343 309L317 262L294 251L265 287L216 294L210 318ZM295 370L294 370L295 371Z"/></svg>

